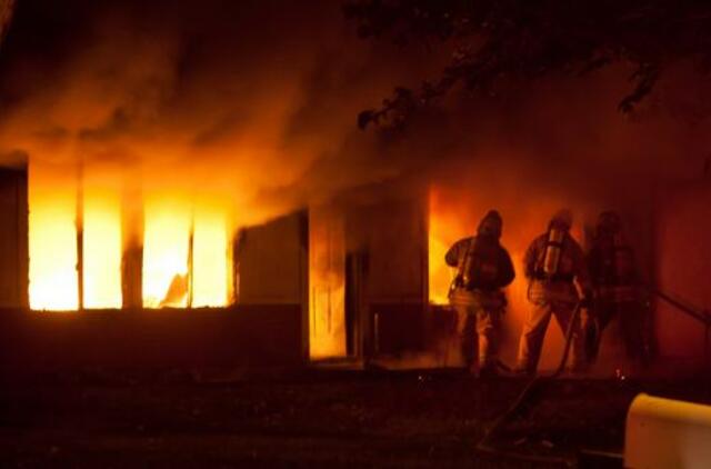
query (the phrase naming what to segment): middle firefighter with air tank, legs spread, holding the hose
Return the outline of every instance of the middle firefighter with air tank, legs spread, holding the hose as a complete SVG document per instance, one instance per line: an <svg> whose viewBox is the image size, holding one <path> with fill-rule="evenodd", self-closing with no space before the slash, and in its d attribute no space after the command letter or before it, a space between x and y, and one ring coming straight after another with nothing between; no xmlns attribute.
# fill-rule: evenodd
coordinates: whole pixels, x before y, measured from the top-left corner
<svg viewBox="0 0 711 469"><path fill-rule="evenodd" d="M575 305L580 301L587 306L592 297L582 248L570 234L572 221L569 210L560 210L551 219L548 231L535 238L525 252L528 299L533 307L519 341L515 367L519 373L535 375L551 316L565 333ZM577 320L572 325L572 371L585 369L584 340L582 321Z"/></svg>

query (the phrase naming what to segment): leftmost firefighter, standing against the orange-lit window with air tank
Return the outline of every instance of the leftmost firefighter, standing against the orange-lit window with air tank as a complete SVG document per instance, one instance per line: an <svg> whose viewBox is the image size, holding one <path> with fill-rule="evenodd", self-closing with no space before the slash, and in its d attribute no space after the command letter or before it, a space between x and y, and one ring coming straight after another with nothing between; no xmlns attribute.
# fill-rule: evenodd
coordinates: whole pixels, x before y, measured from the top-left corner
<svg viewBox="0 0 711 469"><path fill-rule="evenodd" d="M502 288L515 276L509 253L499 243L501 230L501 216L490 210L479 223L477 236L457 241L444 258L448 266L458 269L449 300L457 311L462 356L471 369L474 337L470 331L475 327L481 377L498 375L500 323L507 306Z"/></svg>

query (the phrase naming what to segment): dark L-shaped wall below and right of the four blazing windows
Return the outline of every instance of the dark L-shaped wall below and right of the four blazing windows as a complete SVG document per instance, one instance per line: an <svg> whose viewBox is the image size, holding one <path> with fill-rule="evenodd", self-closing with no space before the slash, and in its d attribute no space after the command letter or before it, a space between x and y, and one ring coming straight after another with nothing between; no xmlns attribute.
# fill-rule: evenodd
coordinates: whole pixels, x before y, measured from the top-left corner
<svg viewBox="0 0 711 469"><path fill-rule="evenodd" d="M87 369L138 372L303 366L307 228L304 214L296 213L246 231L238 257L241 302L233 307L83 312L3 309L0 372L19 377Z"/></svg>

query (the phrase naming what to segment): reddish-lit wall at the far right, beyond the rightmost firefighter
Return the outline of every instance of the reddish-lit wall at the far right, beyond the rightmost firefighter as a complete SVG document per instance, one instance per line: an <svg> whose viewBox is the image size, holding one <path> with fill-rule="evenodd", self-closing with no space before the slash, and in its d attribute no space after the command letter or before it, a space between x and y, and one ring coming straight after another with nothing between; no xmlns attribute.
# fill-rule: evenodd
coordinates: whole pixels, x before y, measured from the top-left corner
<svg viewBox="0 0 711 469"><path fill-rule="evenodd" d="M657 214L657 286L698 310L711 311L711 183L664 191ZM704 328L657 301L659 355L668 362L703 366ZM711 350L710 350L711 351Z"/></svg>

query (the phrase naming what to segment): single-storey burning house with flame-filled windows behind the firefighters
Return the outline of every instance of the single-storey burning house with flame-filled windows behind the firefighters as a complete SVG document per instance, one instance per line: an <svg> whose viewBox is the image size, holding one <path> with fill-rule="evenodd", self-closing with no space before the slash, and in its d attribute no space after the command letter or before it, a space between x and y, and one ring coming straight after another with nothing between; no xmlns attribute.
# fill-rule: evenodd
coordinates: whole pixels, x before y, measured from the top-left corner
<svg viewBox="0 0 711 469"><path fill-rule="evenodd" d="M527 202L515 192L501 197L453 184L413 192L411 184L394 181L236 229L230 224L234 209L219 200L180 192L127 194L120 184L92 186L89 170L79 172L82 179L69 172L66 184L49 174L31 162L29 171L21 166L2 170L0 300L4 365L12 368L323 360L459 366L455 353L442 349L452 340L443 332L451 320L447 291L453 272L442 261L448 247L495 206L505 217L503 243L520 272L528 242L557 207L572 202L579 217L574 234L583 242L599 210L571 193L567 200ZM515 179L499 182L514 184ZM463 183L483 181L473 177ZM700 180L683 190L650 193L621 210L644 278L682 302L702 291L689 290L693 279L684 280L687 269L667 252L704 248L702 240L693 241L695 231L669 227L690 223L680 218L698 217L708 207L707 196L708 184ZM682 236L687 242L680 242ZM507 292L503 357L509 362L529 308L525 293L527 280L519 273ZM703 327L655 296L649 301L657 306L649 311L649 327L661 359L675 360L674 367L703 366ZM562 336L549 333L543 367L554 365L561 347ZM619 339L603 348L612 351L603 350L601 372L630 369Z"/></svg>

